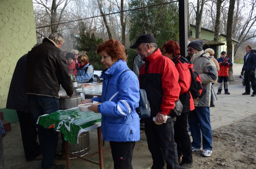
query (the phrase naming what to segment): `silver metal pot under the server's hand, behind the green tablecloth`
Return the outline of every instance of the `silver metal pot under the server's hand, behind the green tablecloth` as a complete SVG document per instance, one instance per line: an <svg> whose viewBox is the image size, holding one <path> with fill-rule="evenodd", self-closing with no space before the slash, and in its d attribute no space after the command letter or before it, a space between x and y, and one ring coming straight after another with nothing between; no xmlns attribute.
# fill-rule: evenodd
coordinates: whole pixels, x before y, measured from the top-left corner
<svg viewBox="0 0 256 169"><path fill-rule="evenodd" d="M60 110L66 110L69 108L77 107L82 101L82 97L79 92L75 92L74 96L69 97L67 95L60 95Z"/></svg>

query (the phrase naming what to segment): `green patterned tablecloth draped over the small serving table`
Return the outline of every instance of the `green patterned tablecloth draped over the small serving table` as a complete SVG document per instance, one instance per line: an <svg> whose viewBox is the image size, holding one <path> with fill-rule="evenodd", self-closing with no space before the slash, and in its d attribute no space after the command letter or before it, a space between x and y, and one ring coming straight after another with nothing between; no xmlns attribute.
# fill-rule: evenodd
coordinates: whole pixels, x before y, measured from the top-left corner
<svg viewBox="0 0 256 169"><path fill-rule="evenodd" d="M101 122L100 113L81 112L79 108L73 108L40 116L37 124L44 128L54 128L55 131L64 135L66 141L78 143L78 136L81 132L86 131L86 128L95 125L97 122Z"/></svg>

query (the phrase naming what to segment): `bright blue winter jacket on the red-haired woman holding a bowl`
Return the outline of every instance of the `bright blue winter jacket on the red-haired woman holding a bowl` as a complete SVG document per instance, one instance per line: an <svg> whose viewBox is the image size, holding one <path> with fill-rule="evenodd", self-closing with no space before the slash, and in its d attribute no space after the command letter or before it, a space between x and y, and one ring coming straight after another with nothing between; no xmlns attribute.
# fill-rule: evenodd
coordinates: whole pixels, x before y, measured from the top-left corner
<svg viewBox="0 0 256 169"><path fill-rule="evenodd" d="M102 96L92 99L102 102L98 112L102 115L102 136L107 141L140 140L140 121L135 110L140 100L139 81L132 71L125 71L127 69L126 61L120 59L102 71Z"/></svg>

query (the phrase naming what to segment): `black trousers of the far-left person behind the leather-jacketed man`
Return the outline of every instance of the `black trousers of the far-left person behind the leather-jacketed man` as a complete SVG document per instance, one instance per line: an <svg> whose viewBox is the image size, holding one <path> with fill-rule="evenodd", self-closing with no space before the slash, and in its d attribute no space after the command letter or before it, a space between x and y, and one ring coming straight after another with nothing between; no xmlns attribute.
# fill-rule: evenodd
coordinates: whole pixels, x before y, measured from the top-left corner
<svg viewBox="0 0 256 169"><path fill-rule="evenodd" d="M41 154L40 145L36 141L36 124L31 113L17 110L17 114L20 121L20 131L25 157L27 161L30 161Z"/></svg>

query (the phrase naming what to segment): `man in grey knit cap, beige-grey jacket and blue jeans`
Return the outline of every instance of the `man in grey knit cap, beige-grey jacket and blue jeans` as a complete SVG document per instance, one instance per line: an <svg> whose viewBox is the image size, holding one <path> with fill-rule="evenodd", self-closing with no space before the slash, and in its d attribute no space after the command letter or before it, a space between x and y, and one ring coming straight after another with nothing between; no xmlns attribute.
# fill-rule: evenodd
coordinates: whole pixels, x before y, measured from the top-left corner
<svg viewBox="0 0 256 169"><path fill-rule="evenodd" d="M192 151L202 151L201 132L203 136L203 153L209 157L212 153L212 128L210 124L210 90L212 82L218 77L216 65L209 53L204 53L203 41L192 41L188 44L187 59L194 64L194 71L200 74L202 94L194 99L195 110L188 115L192 141Z"/></svg>

